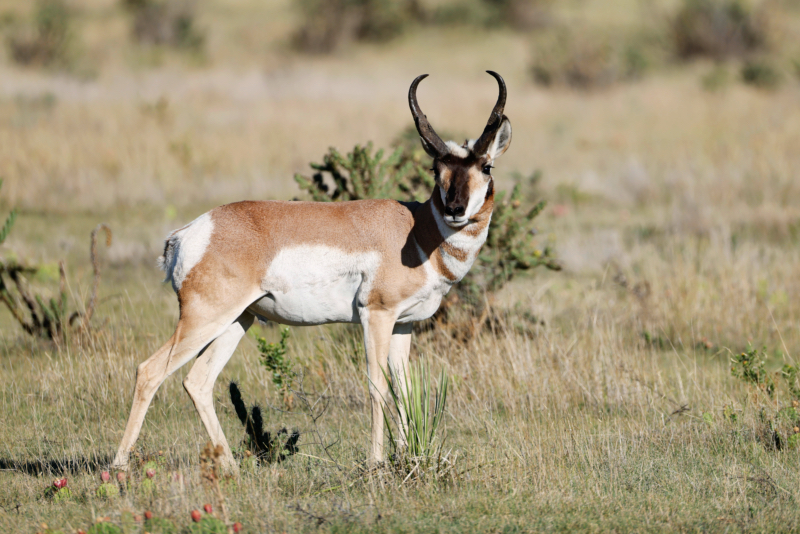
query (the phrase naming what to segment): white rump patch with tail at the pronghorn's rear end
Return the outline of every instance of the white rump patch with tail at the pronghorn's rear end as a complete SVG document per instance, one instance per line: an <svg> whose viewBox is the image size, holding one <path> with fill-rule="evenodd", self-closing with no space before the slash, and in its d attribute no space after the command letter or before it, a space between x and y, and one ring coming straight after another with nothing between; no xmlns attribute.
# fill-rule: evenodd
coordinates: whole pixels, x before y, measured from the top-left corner
<svg viewBox="0 0 800 534"><path fill-rule="evenodd" d="M167 237L164 255L158 258L158 266L167 274L164 281L171 281L176 292L192 268L203 259L213 232L211 214L204 213Z"/></svg>

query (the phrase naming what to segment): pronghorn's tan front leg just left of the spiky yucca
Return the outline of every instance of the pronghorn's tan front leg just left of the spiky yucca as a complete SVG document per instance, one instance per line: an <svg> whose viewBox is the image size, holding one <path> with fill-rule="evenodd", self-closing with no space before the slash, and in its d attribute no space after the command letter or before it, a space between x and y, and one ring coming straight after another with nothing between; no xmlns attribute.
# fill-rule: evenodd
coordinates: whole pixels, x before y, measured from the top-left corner
<svg viewBox="0 0 800 534"><path fill-rule="evenodd" d="M388 372L389 344L395 319L394 314L385 310L365 310L361 318L372 404L372 449L368 458L370 464L383 461L383 405L389 394L384 372Z"/></svg>

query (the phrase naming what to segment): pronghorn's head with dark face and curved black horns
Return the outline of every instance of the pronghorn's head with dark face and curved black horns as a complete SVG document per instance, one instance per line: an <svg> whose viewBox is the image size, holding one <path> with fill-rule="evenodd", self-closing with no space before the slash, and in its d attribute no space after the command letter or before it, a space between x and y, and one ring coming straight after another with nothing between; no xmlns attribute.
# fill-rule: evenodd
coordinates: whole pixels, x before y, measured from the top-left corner
<svg viewBox="0 0 800 534"><path fill-rule="evenodd" d="M511 122L503 115L506 84L496 72L486 72L497 80L500 95L481 136L463 145L442 141L422 113L417 103L417 86L428 75L418 76L408 90L408 104L422 140L422 148L433 158L433 172L441 196L444 220L453 228L474 222L475 216L482 212L481 208L494 192L492 163L511 144Z"/></svg>

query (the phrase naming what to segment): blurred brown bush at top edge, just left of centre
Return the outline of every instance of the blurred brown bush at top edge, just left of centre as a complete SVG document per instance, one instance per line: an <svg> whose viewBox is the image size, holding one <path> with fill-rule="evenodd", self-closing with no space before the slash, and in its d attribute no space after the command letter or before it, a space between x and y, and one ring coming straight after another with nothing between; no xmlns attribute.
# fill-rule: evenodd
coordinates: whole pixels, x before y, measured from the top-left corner
<svg viewBox="0 0 800 534"><path fill-rule="evenodd" d="M417 0L296 0L301 23L294 45L330 53L351 41L387 41L422 20Z"/></svg>

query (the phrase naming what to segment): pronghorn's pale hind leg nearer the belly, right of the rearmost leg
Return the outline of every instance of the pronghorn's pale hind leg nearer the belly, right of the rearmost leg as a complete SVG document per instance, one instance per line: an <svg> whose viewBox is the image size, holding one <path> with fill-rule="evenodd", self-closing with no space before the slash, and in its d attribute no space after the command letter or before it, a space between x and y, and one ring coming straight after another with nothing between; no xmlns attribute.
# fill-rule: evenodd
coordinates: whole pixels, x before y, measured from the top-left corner
<svg viewBox="0 0 800 534"><path fill-rule="evenodd" d="M253 324L253 320L252 314L243 313L200 354L183 380L183 387L192 398L211 442L214 446L222 445L225 451L223 465L229 469L236 469L236 462L214 411L214 382L233 356L236 346Z"/></svg>

